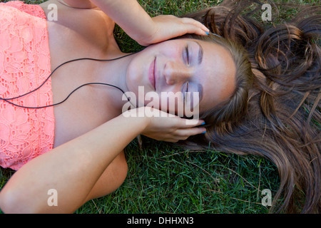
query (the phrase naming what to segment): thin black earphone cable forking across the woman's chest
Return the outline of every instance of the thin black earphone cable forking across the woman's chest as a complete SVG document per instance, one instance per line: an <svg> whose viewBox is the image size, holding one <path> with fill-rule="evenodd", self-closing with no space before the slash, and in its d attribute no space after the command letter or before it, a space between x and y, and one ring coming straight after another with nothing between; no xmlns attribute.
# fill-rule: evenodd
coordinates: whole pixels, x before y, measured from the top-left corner
<svg viewBox="0 0 321 228"><path fill-rule="evenodd" d="M137 52L135 52L135 53L137 53ZM76 59L72 59L72 60L70 60L70 61L66 61L66 62L64 62L64 63L61 63L59 66L57 66L57 67L54 69L54 71L52 71L52 72L50 73L50 75L48 76L48 78L46 78L46 80L45 80L43 83L41 83L41 85L40 85L39 87L35 88L34 90L31 90L31 91L29 91L28 93L24 93L24 94L22 94L22 95L19 95L19 96L17 96L17 97L14 97L14 98L0 98L0 100L4 100L4 101L6 101L7 103L10 103L11 105L14 105L14 106L20 107L20 108L31 108L31 109L48 108L48 107L51 107L51 106L60 105L61 103L65 102L65 101L71 96L71 94L73 94L76 90L82 88L83 86L88 86L88 85L111 86L111 87L113 87L113 88L117 88L118 90L121 90L121 92L126 95L126 93L125 93L121 88L119 88L118 86L113 86L113 85L108 84L108 83L86 83L86 84L83 84L83 85L78 86L77 88L75 88L75 89L74 89L71 93L69 93L69 95L68 95L65 99L63 99L61 102L54 103L54 104L52 104L52 105L45 105L45 106L39 106L39 107L28 107L28 106L24 106L24 105L17 105L17 104L15 104L15 103L9 101L9 100L15 100L15 99L21 98L21 97L23 97L23 96L25 96L25 95L28 95L28 94L30 94L30 93L34 93L36 90L39 90L39 88L41 88L41 86L44 86L44 84L46 83L46 81L49 80L49 78L54 74L54 72L55 72L56 70L58 70L58 68L60 68L61 66L65 65L65 64L67 64L67 63L71 63L71 62L74 62L74 61L81 61L81 60L91 60L91 61L115 61L115 60L118 60L118 59L121 59L121 58L125 58L125 57L127 57L127 56L131 56L131 55L133 55L133 54L134 54L134 53L129 53L129 54L125 55L125 56L121 56L121 57L118 57L118 58L112 58L112 59L76 58ZM127 98L127 99L128 99L128 101L130 101L129 98Z"/></svg>

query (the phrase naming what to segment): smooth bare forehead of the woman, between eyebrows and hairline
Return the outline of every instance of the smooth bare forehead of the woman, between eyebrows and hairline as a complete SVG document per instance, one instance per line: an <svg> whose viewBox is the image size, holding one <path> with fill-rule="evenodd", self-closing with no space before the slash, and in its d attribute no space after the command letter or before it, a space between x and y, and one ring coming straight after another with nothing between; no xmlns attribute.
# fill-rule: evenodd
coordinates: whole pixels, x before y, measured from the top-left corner
<svg viewBox="0 0 321 228"><path fill-rule="evenodd" d="M203 48L199 80L203 86L200 112L228 99L235 89L235 63L227 48L209 41L197 41Z"/></svg>

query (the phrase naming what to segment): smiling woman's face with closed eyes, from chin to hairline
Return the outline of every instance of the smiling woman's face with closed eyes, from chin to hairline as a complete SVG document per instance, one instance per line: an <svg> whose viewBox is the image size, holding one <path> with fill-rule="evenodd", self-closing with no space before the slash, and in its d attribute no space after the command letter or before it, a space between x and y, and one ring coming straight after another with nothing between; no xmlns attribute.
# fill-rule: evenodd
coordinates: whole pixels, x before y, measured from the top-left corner
<svg viewBox="0 0 321 228"><path fill-rule="evenodd" d="M180 116L185 115L182 107L191 106L202 113L233 93L235 64L216 43L190 38L164 41L136 54L128 66L126 85L139 106Z"/></svg>

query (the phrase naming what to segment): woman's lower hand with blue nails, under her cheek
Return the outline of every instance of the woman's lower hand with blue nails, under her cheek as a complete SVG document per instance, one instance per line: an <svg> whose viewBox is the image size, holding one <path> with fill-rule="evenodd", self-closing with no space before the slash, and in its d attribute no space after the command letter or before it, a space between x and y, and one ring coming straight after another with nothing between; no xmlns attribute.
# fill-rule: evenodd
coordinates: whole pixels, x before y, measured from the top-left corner
<svg viewBox="0 0 321 228"><path fill-rule="evenodd" d="M186 140L191 135L198 135L206 130L202 127L195 128L202 125L203 120L188 120L151 107L136 108L123 115L146 118L146 127L141 135L166 142Z"/></svg>

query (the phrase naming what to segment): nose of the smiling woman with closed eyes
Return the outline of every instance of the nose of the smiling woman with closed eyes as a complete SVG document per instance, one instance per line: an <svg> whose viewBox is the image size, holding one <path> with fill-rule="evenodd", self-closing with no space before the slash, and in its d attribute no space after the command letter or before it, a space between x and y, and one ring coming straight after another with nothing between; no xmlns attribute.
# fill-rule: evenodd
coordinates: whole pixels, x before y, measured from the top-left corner
<svg viewBox="0 0 321 228"><path fill-rule="evenodd" d="M163 73L168 85L188 81L193 76L191 68L174 61L166 63Z"/></svg>

